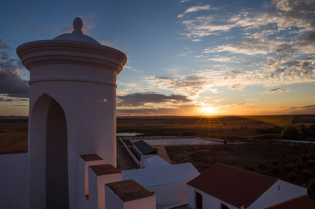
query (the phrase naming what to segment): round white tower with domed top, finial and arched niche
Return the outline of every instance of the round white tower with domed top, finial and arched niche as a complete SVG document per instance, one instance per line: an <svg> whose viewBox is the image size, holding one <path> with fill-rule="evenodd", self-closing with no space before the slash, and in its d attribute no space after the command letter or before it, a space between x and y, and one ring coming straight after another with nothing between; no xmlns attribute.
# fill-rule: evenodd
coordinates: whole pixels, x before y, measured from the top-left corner
<svg viewBox="0 0 315 209"><path fill-rule="evenodd" d="M16 50L30 71L28 208L80 208L79 155L116 167L116 76L127 56L83 35L80 18L73 27Z"/></svg>

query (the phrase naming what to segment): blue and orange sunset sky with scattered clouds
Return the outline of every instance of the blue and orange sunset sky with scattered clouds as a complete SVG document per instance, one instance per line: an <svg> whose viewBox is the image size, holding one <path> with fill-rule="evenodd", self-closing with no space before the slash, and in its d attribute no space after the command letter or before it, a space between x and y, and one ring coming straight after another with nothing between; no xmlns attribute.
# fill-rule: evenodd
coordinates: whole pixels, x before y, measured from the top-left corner
<svg viewBox="0 0 315 209"><path fill-rule="evenodd" d="M117 115L315 114L315 1L2 1L0 115L28 115L16 48L83 33L123 51ZM5 9L4 9L5 8ZM84 97L84 95L82 95Z"/></svg>

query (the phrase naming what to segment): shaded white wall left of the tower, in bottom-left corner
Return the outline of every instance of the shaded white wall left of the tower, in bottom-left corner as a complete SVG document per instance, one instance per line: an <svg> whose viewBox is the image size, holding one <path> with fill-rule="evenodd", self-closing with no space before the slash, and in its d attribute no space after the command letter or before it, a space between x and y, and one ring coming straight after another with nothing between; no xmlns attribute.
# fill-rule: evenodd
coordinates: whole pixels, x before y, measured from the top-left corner
<svg viewBox="0 0 315 209"><path fill-rule="evenodd" d="M27 153L0 155L0 208L26 208Z"/></svg>

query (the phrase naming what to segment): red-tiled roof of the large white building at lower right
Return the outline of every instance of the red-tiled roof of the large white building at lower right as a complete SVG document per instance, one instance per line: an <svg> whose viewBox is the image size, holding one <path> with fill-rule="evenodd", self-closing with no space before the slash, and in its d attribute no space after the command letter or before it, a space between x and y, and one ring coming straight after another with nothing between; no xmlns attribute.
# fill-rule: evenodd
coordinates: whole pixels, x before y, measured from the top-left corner
<svg viewBox="0 0 315 209"><path fill-rule="evenodd" d="M278 179L216 163L187 183L235 207L247 208Z"/></svg>

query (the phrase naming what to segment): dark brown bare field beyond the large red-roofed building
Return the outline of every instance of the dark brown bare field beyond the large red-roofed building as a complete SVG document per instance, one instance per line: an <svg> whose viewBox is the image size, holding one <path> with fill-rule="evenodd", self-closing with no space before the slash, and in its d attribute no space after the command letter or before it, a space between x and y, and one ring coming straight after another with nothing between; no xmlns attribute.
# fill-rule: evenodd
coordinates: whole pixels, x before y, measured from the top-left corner
<svg viewBox="0 0 315 209"><path fill-rule="evenodd" d="M258 164L271 162L274 159L287 161L288 157L289 159L299 158L302 154L315 153L315 144L268 140L245 144L166 146L165 150L169 158L176 163L191 162L199 172L203 172L216 162L227 163L227 165L232 165L231 162L233 162L234 167L243 168L245 164L253 162Z"/></svg>

